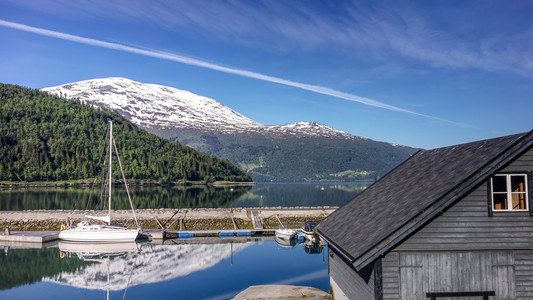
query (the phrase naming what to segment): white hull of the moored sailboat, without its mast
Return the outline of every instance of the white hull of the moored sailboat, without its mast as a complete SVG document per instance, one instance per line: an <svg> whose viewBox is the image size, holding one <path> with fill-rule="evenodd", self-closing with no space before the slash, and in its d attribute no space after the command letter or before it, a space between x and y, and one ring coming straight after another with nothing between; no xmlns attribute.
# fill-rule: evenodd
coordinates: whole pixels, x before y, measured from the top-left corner
<svg viewBox="0 0 533 300"><path fill-rule="evenodd" d="M139 229L102 226L94 230L79 228L62 230L59 232L59 239L71 242L113 243L135 241L138 235Z"/></svg>

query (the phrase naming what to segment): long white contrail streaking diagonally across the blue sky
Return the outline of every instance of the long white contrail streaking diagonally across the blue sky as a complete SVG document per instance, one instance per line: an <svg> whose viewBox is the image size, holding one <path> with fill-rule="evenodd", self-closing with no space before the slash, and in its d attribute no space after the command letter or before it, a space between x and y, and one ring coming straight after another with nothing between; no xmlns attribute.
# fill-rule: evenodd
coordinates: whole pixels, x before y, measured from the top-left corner
<svg viewBox="0 0 533 300"><path fill-rule="evenodd" d="M31 32L31 33L35 33L35 34L39 34L39 35L54 37L54 38L58 38L58 39L62 39L62 40L67 40L67 41L71 41L71 42L80 43L80 44L86 44L86 45L91 45L91 46L96 46L96 47L101 47L101 48L108 48L108 49L113 49L113 50L118 50L118 51L130 52L130 53L135 53L135 54L139 54L139 55L150 56L150 57L160 58L160 59L164 59L164 60L170 60L170 61L180 62L180 63L184 63L184 64L188 64L188 65L193 65L193 66L197 66L197 67L202 67L202 68L206 68L206 69L216 70L216 71L220 71L220 72L224 72L224 73L235 74L235 75L239 75L239 76L243 76L243 77L259 79L259 80L262 80L262 81L268 81L268 82L278 83L278 84L282 84L282 85L286 85L286 86L292 86L292 87L295 87L295 88L299 88L299 89L315 92L315 93L318 93L318 94L323 94L323 95L328 95L328 96L332 96L332 97L335 97L335 98L340 98L340 99L344 99L344 100L359 102L359 103L362 103L362 104L365 104L365 105L379 107L379 108L383 108L383 109L387 109L387 110L391 110L391 111L397 111L397 112L403 112L403 113L407 113L407 114L413 114L413 115L417 115L417 116L422 116L422 117L425 117L425 118L430 118L430 119L435 119L435 120L451 123L451 124L454 124L454 125L457 125L457 126L461 126L461 127L469 127L469 125L466 125L466 124L457 123L457 122L454 122L454 121L442 119L442 118L435 117L435 116L430 116L430 115L426 115L426 114L417 113L417 112L414 112L414 111L411 111L411 110L407 110L407 109L403 109L403 108L400 108L400 107L392 106L392 105L389 105L389 104L386 104L386 103L383 103L383 102L379 102L379 101L376 101L376 100L372 100L372 99L368 99L368 98L364 98L364 97L359 97L357 95L353 95L353 94L349 94L349 93L344 93L344 92L341 92L341 91L333 90L333 89L330 89L330 88L327 88L327 87L318 86L318 85L311 85L311 84L306 84L306 83L300 83L300 82L295 82L295 81L290 81L290 80L287 80L287 79L273 77L273 76L264 75L264 74L260 74L260 73L255 73L255 72L251 72L251 71L247 71L247 70L240 70L240 69L235 69L235 68L224 67L224 66L220 66L220 65L217 65L217 64L205 62L205 61L202 61L202 60L199 60L199 59L195 59L195 58L191 58L191 57L187 57L187 56L181 56L181 55L177 55L177 54L166 53L166 52L161 52L161 51L156 51L156 50L145 50L145 49L140 49L140 48L134 48L134 47L125 46L125 45L121 45L121 44L117 44L117 43L104 42L104 41L91 39L91 38L86 38L86 37L81 37L81 36L72 35L72 34L68 34L68 33L62 33L62 32L42 29L42 28L38 28L38 27L32 27L32 26L28 26L28 25L24 25L24 24L20 24L20 23L9 22L9 21L5 21L5 20L2 20L2 19L0 19L0 26L9 27L9 28L13 28L13 29L18 29L18 30L22 30L22 31L27 31L27 32Z"/></svg>

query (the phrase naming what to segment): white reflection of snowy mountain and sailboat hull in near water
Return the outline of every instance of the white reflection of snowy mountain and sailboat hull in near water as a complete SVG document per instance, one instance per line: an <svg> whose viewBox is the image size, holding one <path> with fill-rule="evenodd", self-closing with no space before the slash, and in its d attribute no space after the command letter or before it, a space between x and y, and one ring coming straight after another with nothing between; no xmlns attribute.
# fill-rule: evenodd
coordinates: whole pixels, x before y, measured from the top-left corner
<svg viewBox="0 0 533 300"><path fill-rule="evenodd" d="M90 264L76 272L62 272L46 277L43 281L83 289L106 290L109 286L112 291L123 290L128 287L128 281L129 287L132 287L182 277L210 268L251 243L137 246L135 243L92 245L59 242L59 250L67 257L76 255L81 260L101 259L102 262ZM94 250L99 246L100 249ZM109 266L104 263L104 258L109 258ZM108 268L109 284L106 275Z"/></svg>

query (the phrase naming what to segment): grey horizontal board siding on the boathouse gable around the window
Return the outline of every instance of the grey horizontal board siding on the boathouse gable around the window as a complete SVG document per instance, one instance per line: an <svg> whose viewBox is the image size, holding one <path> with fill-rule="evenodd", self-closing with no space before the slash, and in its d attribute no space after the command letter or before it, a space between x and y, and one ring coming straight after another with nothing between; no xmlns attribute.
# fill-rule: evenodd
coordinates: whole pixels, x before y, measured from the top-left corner
<svg viewBox="0 0 533 300"><path fill-rule="evenodd" d="M501 172L533 169L533 150ZM530 190L533 188L528 186ZM533 247L529 212L493 212L489 216L488 185L479 186L454 206L399 245L397 250L491 250Z"/></svg>

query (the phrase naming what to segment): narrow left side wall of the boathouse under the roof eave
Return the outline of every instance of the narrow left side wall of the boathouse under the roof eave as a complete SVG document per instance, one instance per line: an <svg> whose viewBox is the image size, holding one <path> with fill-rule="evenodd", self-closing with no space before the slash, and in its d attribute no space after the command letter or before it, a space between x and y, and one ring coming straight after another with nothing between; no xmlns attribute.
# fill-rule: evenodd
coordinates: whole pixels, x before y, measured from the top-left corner
<svg viewBox="0 0 533 300"><path fill-rule="evenodd" d="M333 291L339 295L335 299L374 299L374 274L373 272L357 273L352 265L343 260L337 253L329 249L329 276L331 280L342 290Z"/></svg>

